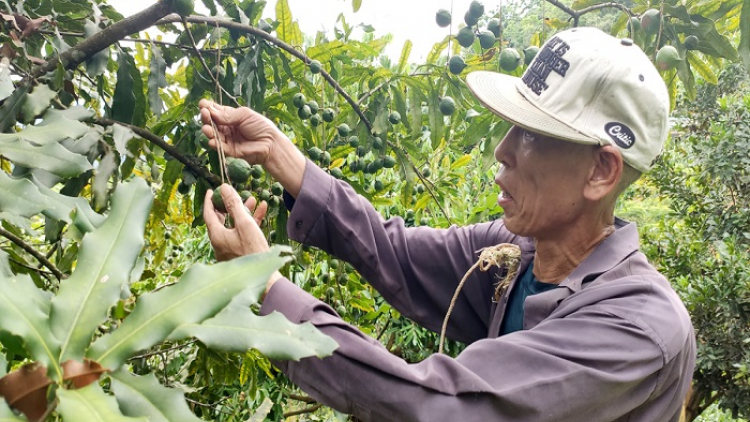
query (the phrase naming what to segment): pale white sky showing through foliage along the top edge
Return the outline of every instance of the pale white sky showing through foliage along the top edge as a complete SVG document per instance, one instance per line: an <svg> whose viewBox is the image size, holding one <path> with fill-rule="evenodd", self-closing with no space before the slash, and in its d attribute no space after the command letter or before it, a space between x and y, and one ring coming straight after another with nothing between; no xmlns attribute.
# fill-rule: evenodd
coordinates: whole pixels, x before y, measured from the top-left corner
<svg viewBox="0 0 750 422"><path fill-rule="evenodd" d="M410 60L421 62L432 45L442 40L449 28L440 28L435 23L435 12L453 7L453 33L463 22L471 0L362 0L357 13L352 12L351 0L288 0L292 17L299 22L302 32L314 35L317 31L332 31L336 18L344 13L350 25L369 24L376 35L393 34L393 41L387 54L398 57L404 41L414 43ZM134 0L109 0L123 15L130 16L147 7L149 3ZM495 4L497 3L497 4ZM484 1L486 10L497 8L499 0ZM202 4L196 1L196 7ZM276 0L268 0L264 16L275 17ZM201 9L198 9L200 12Z"/></svg>

